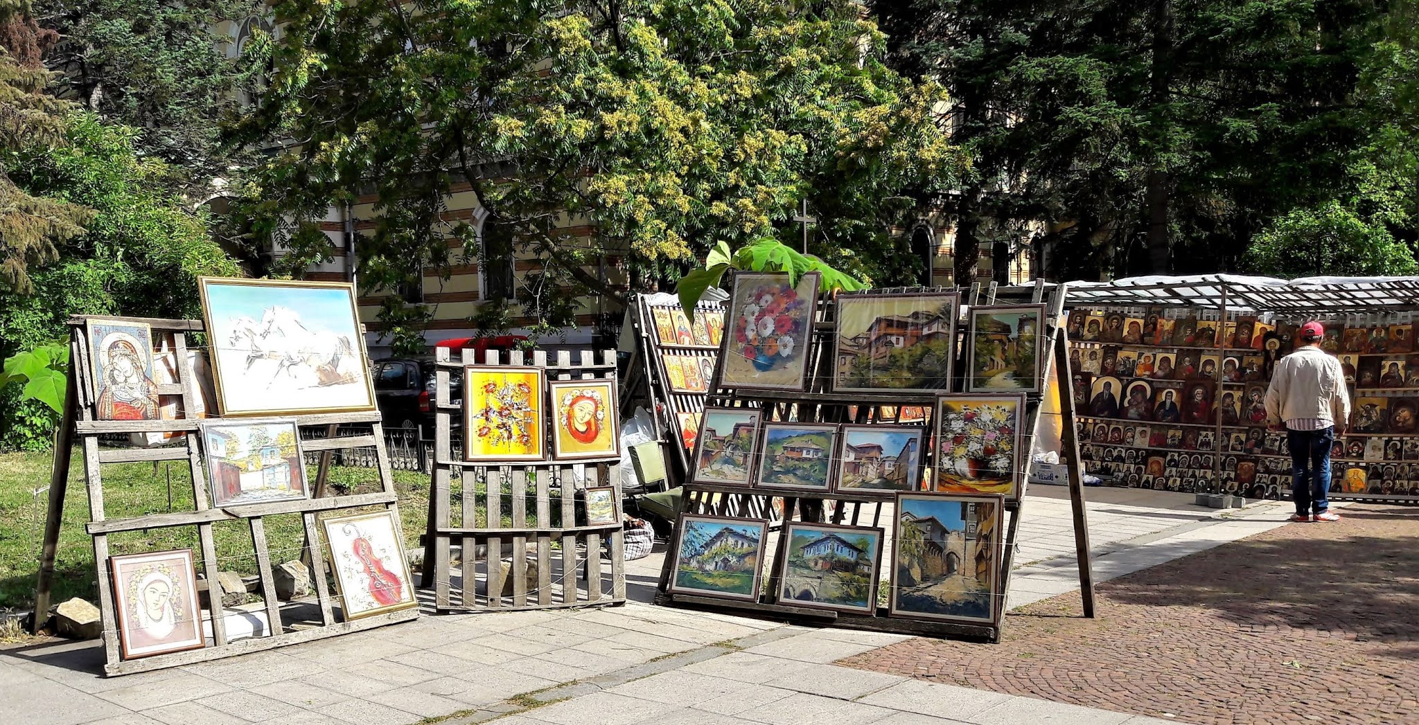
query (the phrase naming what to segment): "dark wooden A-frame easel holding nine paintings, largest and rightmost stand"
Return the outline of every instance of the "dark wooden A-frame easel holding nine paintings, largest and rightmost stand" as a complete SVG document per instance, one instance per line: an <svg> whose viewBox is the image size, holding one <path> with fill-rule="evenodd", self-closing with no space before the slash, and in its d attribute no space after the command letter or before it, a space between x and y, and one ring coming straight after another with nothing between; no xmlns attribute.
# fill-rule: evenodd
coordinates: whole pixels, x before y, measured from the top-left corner
<svg viewBox="0 0 1419 725"><path fill-rule="evenodd" d="M962 304L976 305L979 304L993 304L995 302L995 284L990 285L986 299L981 302L981 285L973 284L969 291L962 292ZM907 291L907 289L902 289ZM912 288L914 292L929 292L929 291L949 291L949 289L922 289ZM891 289L884 289L884 292L891 292ZM1033 289L1033 302L1042 302L1044 298L1044 285L1037 284ZM1050 380L1053 373L1053 363L1060 365L1060 370L1067 375L1069 372L1069 356L1064 348L1064 328L1054 325L1063 311L1063 298L1054 295L1049 304L1047 319L1051 322L1050 332L1042 331L1037 338L1039 345L1051 345L1054 355L1042 356L1042 380ZM969 331L966 331L969 333ZM830 352L833 349L833 323L832 322L817 322L815 325L815 350L816 359L810 360L809 369L813 370L812 380L815 384L810 386L809 392L776 392L776 390L731 390L731 392L717 392L710 396L711 404L719 404L725 407L759 407L763 413L763 420L788 420L792 414L793 420L799 423L866 423L868 420L883 420L883 407L897 407L901 406L924 406L932 407L935 404L935 394L911 394L911 393L832 393L826 392L823 380L827 379L832 369ZM719 360L722 365L722 360ZM718 367L718 366L717 366ZM961 366L956 366L961 370ZM717 369L717 379L719 372ZM1067 379L1067 377L1066 377ZM1046 386L1042 386L1046 387ZM1067 390L1067 387L1064 389ZM849 403L844 397L850 397ZM1029 481L1029 475L1034 468L1033 457L1029 454L1034 448L1034 428L1037 423L1037 414L1040 409L1043 393L1034 393L1027 397L1026 402L1026 416L1027 421L1027 436L1022 441L1023 450L1026 453L1025 471L1022 474L1020 482L1020 497L1016 501L1005 502L1005 512L1009 514L1009 525L1003 536L1002 556L999 560L999 580L1002 596L1009 592L1010 583L1010 565L1013 560L1015 548L1017 545L1019 524L1023 509L1025 488ZM1078 450L1074 443L1073 431L1073 397L1064 396L1064 406L1061 407L1061 414L1064 416L1063 427L1066 428L1066 445L1064 458L1070 470L1070 498L1073 501L1074 514L1074 536L1076 536L1076 550L1078 553L1080 562L1080 583L1084 593L1084 614L1087 617L1094 616L1094 592L1093 592L1093 576L1091 563L1088 552L1088 529L1087 529L1087 515L1084 509L1083 498L1083 471L1078 467ZM849 416L850 407L856 407L856 416ZM736 514L728 508L728 504L739 497L746 498L762 498L763 508L772 504L772 494L745 494L744 487L735 485L714 485L714 484L685 484L684 497L684 512L687 514L715 514L715 515L744 515ZM827 504L824 509L824 502ZM876 507L870 518L864 516L863 504ZM849 522L851 525L868 525L878 526L885 525L881 521L883 508L885 502L880 498L873 497L856 497L844 494L841 491L832 494L832 499L803 499L795 497L783 498L783 519L792 521L795 511L797 511L797 518L802 521L822 521L826 515L833 524ZM778 549L775 553L775 560L783 560L786 556L788 541L785 536L779 536ZM890 566L890 562L884 562ZM829 611L820 609L797 607L792 604L785 604L776 600L776 592L779 589L779 576L775 570L768 572L762 576L766 577L768 583L763 587L765 594L759 597L758 602L739 602L728 599L715 599L704 596L690 596L671 593L668 590L670 577L674 572L674 552L668 552L666 556L666 563L661 569L660 585L657 589L656 603L663 606L684 606L694 609L732 609L741 613L761 613L768 616L788 617L793 620L803 620L815 624L827 624L833 627L857 629L857 630L873 630L873 631L890 631L901 634L922 634L922 636L955 636L966 637L986 641L999 641L1000 626L999 624L962 624L962 623L944 623L927 619L907 619L907 617L888 617L885 609L877 610L876 614L856 614L843 611ZM1002 609L1003 609L1002 602ZM1003 621L1003 613L1000 617Z"/></svg>

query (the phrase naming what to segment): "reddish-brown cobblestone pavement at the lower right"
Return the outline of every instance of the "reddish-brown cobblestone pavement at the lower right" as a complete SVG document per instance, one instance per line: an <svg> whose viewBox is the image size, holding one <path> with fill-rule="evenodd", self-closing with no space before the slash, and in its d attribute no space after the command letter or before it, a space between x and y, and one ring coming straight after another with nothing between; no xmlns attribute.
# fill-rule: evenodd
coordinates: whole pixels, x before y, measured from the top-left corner
<svg viewBox="0 0 1419 725"><path fill-rule="evenodd" d="M839 664L1196 724L1419 722L1419 511L1351 505Z"/></svg>

